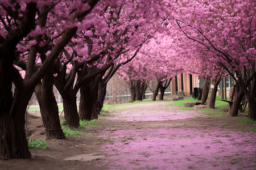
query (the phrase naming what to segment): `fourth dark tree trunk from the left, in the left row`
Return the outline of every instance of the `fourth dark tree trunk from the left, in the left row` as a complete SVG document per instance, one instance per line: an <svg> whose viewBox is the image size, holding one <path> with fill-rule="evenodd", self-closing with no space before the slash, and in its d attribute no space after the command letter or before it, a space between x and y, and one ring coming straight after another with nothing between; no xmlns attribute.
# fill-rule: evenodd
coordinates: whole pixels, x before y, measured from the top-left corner
<svg viewBox="0 0 256 170"><path fill-rule="evenodd" d="M102 76L101 76L102 78ZM98 97L98 84L100 77L80 87L79 118L80 120L93 120L98 118L96 101Z"/></svg>

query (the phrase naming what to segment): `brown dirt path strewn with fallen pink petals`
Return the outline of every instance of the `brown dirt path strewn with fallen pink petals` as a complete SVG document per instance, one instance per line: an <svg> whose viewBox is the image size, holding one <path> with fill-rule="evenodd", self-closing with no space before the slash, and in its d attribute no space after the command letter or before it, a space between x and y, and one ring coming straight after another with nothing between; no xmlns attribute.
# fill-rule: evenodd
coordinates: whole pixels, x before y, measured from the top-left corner
<svg viewBox="0 0 256 170"><path fill-rule="evenodd" d="M84 135L46 140L46 150L30 150L32 159L0 160L0 169L256 169L254 125L168 103L115 108L80 129ZM27 122L28 138L44 137L40 114Z"/></svg>

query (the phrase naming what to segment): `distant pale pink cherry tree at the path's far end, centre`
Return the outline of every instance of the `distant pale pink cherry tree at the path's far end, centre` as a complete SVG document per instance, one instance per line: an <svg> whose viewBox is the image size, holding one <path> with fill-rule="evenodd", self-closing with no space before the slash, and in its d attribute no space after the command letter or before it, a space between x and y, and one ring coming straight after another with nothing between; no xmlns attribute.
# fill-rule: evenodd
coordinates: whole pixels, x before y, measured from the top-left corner
<svg viewBox="0 0 256 170"><path fill-rule="evenodd" d="M156 38L156 36L155 36ZM163 100L164 90L169 86L171 79L181 74L183 67L178 63L179 56L174 48L174 40L170 36L159 34L156 39L151 40L147 46L144 46L148 71L148 80L157 81L156 87L152 89L152 100L156 100L156 96L160 90L160 100ZM150 86L148 86L150 87Z"/></svg>

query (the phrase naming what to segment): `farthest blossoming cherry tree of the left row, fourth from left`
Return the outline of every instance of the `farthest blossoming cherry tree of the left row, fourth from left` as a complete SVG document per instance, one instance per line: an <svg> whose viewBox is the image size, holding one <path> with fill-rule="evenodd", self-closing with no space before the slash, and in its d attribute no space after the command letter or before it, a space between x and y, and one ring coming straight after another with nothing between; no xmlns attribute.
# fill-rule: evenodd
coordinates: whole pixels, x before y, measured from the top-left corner
<svg viewBox="0 0 256 170"><path fill-rule="evenodd" d="M90 82L82 84L84 87L81 86L80 88L80 119L90 120L97 118L96 113L99 112L95 112L96 109L93 108L95 108L95 104L97 104L97 111L100 111L108 80L114 75L118 67L129 62L131 58L134 58L143 43L150 39L161 27L163 20L155 16L159 14L159 9L163 9L159 6L159 3L152 3L149 6L139 8L141 5L141 1L138 1L138 3L127 2L118 6L103 7L105 12L102 16L105 19L105 25L107 25L105 32L101 32L100 36L97 36L97 32L94 32L94 35L97 37L80 36L84 37L87 44L89 44L89 53L91 51L93 52L93 49L96 47L100 50L104 49L104 53L101 54L100 59L93 61L92 64L86 65L89 67L89 70L92 67L100 69L100 67L105 65L111 66L110 63L113 63L108 73L102 73L98 75L97 78L90 79ZM163 14L162 16L164 17L165 15ZM120 58L124 56L121 54L126 52L134 53L131 57L127 58L127 61L126 59ZM83 67L82 70L84 69L85 67Z"/></svg>

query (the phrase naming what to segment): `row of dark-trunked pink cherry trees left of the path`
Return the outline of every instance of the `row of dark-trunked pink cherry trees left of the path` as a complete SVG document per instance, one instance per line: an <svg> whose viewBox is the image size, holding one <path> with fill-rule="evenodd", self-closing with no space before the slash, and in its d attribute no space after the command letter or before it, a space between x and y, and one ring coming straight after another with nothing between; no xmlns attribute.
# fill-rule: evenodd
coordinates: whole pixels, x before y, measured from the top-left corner
<svg viewBox="0 0 256 170"><path fill-rule="evenodd" d="M47 138L64 138L53 85L63 97L65 124L77 128L79 119L97 118L108 80L160 27L155 16L163 7L156 2L1 1L1 156L31 157L24 114L34 91Z"/></svg>

